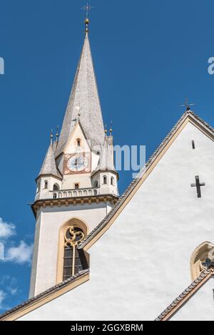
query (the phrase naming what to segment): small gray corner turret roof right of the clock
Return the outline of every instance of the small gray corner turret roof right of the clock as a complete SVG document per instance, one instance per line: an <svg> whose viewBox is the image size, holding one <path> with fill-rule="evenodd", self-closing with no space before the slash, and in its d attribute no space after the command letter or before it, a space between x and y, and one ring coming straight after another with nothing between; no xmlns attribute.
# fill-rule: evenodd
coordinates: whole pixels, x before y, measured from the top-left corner
<svg viewBox="0 0 214 335"><path fill-rule="evenodd" d="M113 164L113 138L106 136L96 171L116 171Z"/></svg>

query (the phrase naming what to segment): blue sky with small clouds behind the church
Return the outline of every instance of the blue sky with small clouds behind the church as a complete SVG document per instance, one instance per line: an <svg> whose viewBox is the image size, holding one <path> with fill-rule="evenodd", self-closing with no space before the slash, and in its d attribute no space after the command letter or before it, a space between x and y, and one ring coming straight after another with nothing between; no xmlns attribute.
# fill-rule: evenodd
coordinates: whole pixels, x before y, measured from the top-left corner
<svg viewBox="0 0 214 335"><path fill-rule="evenodd" d="M28 297L35 177L61 125L83 43L82 0L0 0L0 312ZM114 143L147 158L183 113L185 96L214 125L211 0L91 0L90 41L103 119ZM131 172L120 173L123 192ZM18 255L17 256L17 252Z"/></svg>

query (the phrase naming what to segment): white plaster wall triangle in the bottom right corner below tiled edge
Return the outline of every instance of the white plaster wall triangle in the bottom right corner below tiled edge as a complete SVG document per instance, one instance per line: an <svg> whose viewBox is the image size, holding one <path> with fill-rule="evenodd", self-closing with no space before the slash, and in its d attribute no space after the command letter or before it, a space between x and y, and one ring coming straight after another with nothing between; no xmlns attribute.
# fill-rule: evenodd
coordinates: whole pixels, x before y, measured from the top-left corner
<svg viewBox="0 0 214 335"><path fill-rule="evenodd" d="M214 321L214 280L211 278L179 309L171 321Z"/></svg>

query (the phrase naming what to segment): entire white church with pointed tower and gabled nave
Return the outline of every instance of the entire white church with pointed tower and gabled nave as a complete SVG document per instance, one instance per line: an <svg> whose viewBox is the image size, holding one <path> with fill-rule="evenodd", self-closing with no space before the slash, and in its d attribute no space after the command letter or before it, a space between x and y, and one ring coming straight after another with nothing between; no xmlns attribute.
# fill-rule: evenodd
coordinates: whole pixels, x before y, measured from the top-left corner
<svg viewBox="0 0 214 335"><path fill-rule="evenodd" d="M187 105L119 196L88 24L36 177L29 300L0 320L213 321L214 129Z"/></svg>

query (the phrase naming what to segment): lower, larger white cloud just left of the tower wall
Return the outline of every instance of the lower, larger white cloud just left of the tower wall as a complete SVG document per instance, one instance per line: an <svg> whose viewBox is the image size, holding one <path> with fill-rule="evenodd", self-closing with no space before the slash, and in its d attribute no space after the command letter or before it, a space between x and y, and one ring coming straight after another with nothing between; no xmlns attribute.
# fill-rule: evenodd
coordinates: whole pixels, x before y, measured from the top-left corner
<svg viewBox="0 0 214 335"><path fill-rule="evenodd" d="M21 241L18 247L10 247L6 252L5 261L18 264L31 263L33 244L28 245Z"/></svg>

